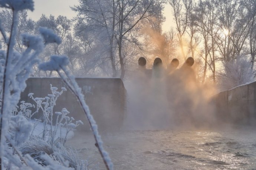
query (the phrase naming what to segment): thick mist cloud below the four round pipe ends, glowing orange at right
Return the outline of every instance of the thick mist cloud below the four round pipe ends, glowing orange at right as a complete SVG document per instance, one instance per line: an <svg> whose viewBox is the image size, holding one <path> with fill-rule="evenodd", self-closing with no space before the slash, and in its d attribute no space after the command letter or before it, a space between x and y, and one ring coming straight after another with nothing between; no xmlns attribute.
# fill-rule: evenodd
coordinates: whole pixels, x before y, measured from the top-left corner
<svg viewBox="0 0 256 170"><path fill-rule="evenodd" d="M193 65L193 64L191 64ZM191 65L138 66L127 89L128 129L186 129L214 125L213 88L196 81Z"/></svg>

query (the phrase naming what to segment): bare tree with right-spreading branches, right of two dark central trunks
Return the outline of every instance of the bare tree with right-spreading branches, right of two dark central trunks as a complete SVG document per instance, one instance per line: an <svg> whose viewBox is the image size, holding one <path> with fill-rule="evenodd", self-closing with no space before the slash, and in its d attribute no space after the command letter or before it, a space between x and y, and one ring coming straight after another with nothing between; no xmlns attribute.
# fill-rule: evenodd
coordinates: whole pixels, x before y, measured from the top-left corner
<svg viewBox="0 0 256 170"><path fill-rule="evenodd" d="M139 22L150 19L153 15L161 14L163 9L163 1L160 0L117 0L117 33L116 40L118 43L118 56L121 67L121 78L125 75L124 56L122 56L122 43L129 41L138 44L138 30L140 30Z"/></svg>

